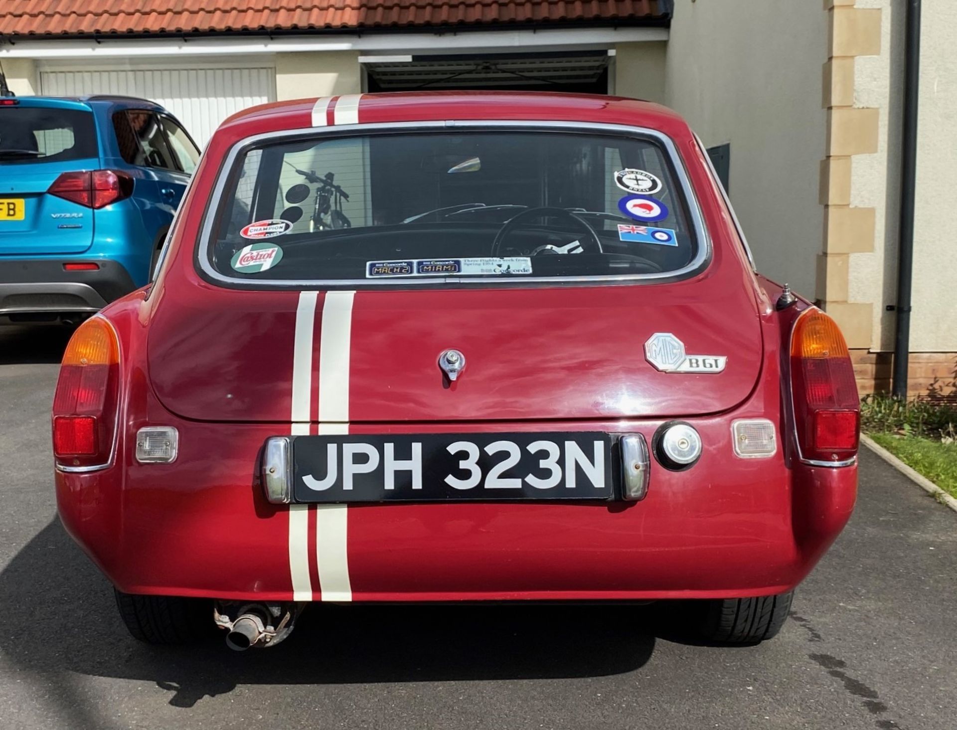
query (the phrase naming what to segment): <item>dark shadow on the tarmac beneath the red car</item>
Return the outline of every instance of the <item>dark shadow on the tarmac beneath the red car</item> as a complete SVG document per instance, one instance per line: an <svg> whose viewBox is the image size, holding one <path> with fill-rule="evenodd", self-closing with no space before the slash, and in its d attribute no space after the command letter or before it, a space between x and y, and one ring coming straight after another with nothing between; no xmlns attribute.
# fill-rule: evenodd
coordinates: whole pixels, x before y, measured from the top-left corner
<svg viewBox="0 0 957 730"><path fill-rule="evenodd" d="M643 632L667 620L634 605L317 605L283 644L237 654L147 647L122 627L109 583L54 519L0 573L0 651L29 673L153 681L191 707L241 684L343 684L601 676L642 667ZM54 681L78 726L94 707ZM78 716L79 714L79 716Z"/></svg>

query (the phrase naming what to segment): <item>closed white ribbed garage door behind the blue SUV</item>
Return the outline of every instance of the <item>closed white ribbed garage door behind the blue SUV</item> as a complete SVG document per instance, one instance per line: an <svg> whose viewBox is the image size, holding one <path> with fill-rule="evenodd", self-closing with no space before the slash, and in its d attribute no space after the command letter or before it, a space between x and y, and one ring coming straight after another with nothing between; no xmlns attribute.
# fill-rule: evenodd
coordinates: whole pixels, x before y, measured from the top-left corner
<svg viewBox="0 0 957 730"><path fill-rule="evenodd" d="M163 104L200 147L236 111L276 101L276 71L268 68L161 68L41 71L47 96L122 94Z"/></svg>

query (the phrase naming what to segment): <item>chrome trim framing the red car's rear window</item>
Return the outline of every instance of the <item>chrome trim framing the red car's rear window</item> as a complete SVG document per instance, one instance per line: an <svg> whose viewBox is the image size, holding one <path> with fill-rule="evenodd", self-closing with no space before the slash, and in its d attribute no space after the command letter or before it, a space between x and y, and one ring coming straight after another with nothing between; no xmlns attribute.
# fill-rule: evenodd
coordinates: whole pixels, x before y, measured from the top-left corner
<svg viewBox="0 0 957 730"><path fill-rule="evenodd" d="M401 132L401 131L449 131L457 129L491 129L501 130L539 130L550 132L577 132L582 131L599 132L614 134L622 137L649 137L656 140L665 150L669 162L674 166L676 176L678 177L679 187L684 194L688 206L688 215L691 217L692 229L698 242L698 251L695 258L687 265L675 269L674 271L662 271L653 274L625 274L625 275L601 275L601 276L563 276L563 277L523 277L522 279L503 281L497 277L441 277L435 279L272 279L272 280L251 280L240 279L237 277L226 276L216 271L210 262L210 246L212 227L215 217L218 214L220 204L222 203L226 181L229 179L236 157L246 148L254 146L260 142L278 141L287 137L316 136L353 136L355 134L365 135L367 132ZM688 176L687 167L684 160L678 152L674 141L663 132L657 129L650 129L644 126L631 125L609 125L586 122L534 122L526 120L467 120L467 121L432 121L432 122L393 122L384 124L359 124L359 125L334 125L323 127L299 127L296 129L284 129L278 132L264 132L245 137L236 142L226 155L226 159L219 169L216 184L213 187L210 201L203 213L203 225L200 231L199 243L196 246L195 256L198 259L199 266L212 282L219 282L225 285L244 285L243 288L256 288L258 290L274 288L318 288L327 289L330 287L349 287L357 286L375 287L417 287L428 285L523 285L523 284L602 284L602 283L630 283L630 282L658 282L674 281L685 276L697 273L703 270L711 262L712 241L708 235L707 227L704 224L704 217L701 213L701 205L698 195L692 188ZM250 286L253 285L253 286Z"/></svg>

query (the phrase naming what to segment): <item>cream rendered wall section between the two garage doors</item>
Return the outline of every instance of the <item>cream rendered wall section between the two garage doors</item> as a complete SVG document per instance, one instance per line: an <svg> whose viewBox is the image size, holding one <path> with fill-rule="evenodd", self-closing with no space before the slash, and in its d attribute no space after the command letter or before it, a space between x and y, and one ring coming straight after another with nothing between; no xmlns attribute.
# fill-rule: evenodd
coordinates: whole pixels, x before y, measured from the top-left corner
<svg viewBox="0 0 957 730"><path fill-rule="evenodd" d="M362 91L362 70L356 51L314 51L278 54L276 57L276 99L358 94Z"/></svg>

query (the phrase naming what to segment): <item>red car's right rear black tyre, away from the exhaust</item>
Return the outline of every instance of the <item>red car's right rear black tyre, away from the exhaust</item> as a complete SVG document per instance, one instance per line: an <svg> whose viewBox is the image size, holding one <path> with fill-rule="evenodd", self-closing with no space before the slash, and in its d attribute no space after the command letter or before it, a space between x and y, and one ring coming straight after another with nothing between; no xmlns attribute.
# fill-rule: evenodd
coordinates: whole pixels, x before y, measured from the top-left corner
<svg viewBox="0 0 957 730"><path fill-rule="evenodd" d="M777 635L790 612L794 591L759 598L706 601L701 633L720 644L757 644Z"/></svg>

